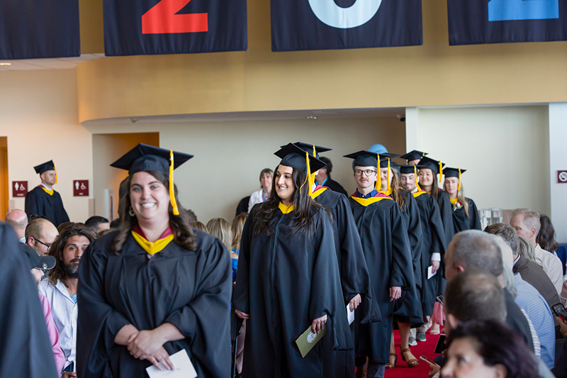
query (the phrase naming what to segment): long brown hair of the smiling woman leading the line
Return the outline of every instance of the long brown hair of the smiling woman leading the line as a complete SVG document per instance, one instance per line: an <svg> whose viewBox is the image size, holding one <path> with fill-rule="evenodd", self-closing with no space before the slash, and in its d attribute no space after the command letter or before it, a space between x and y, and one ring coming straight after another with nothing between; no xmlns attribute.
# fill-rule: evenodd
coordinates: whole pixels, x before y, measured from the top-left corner
<svg viewBox="0 0 567 378"><path fill-rule="evenodd" d="M165 189L167 189L167 191L169 192L169 177L167 176L167 174L159 171L149 171L147 173L158 179L159 182L162 182ZM124 247L126 240L128 239L128 237L130 237L132 229L137 225L136 216L130 216L130 214L128 213L130 206L132 206L132 202L130 202L131 182L132 176L128 176L125 179L125 188L127 188L128 191L126 195L120 199L120 210L124 214L124 216L123 218L121 218L122 222L120 223L120 232L118 233L118 235L116 235L116 238L114 239L114 243L112 245L112 250L116 253L116 255L120 254L120 251ZM169 204L169 227L172 228L174 243L176 245L179 245L179 247L184 248L185 250L195 250L195 234L193 234L193 229L189 226L187 211L179 203L179 197L177 196L177 187L175 186L175 184L174 196L177 201L177 207L179 208L179 215L176 216L173 213L172 204Z"/></svg>

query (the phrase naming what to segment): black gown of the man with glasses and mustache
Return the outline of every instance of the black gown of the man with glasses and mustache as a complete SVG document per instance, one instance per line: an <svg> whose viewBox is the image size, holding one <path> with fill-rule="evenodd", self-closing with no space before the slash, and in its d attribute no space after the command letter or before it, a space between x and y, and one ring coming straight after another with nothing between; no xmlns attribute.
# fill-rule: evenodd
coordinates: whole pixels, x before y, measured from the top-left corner
<svg viewBox="0 0 567 378"><path fill-rule="evenodd" d="M355 353L357 357L368 356L373 362L385 364L389 361L394 309L390 287L402 287L404 306L399 315L407 316L410 323L421 321L408 226L400 206L388 196L378 194L369 200L351 196L349 204L382 315L381 322L361 324L361 313L356 311Z"/></svg>

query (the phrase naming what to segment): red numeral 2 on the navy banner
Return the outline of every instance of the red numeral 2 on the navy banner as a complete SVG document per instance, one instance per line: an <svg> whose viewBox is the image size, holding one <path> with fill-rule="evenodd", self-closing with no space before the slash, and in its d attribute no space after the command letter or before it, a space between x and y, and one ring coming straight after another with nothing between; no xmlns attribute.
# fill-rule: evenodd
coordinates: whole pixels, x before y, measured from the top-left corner
<svg viewBox="0 0 567 378"><path fill-rule="evenodd" d="M142 34L208 31L208 13L176 14L191 0L161 0L142 15Z"/></svg>

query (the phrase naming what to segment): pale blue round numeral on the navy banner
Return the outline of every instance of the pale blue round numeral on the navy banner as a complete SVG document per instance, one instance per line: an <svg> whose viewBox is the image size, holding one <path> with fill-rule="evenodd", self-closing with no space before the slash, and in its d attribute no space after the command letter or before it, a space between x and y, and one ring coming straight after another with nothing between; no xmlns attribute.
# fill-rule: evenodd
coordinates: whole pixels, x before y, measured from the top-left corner
<svg viewBox="0 0 567 378"><path fill-rule="evenodd" d="M382 0L356 0L349 8L341 8L335 0L309 0L315 16L328 26L339 29L356 28L374 17Z"/></svg>

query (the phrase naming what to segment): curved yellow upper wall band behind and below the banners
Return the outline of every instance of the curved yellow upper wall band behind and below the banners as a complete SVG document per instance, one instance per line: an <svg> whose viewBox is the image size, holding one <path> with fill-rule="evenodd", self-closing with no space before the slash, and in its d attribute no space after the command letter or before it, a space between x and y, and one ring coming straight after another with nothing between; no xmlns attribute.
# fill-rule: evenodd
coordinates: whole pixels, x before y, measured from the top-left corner
<svg viewBox="0 0 567 378"><path fill-rule="evenodd" d="M441 0L423 27L423 46L271 52L269 1L249 0L247 52L79 65L79 119L567 101L565 42L449 47Z"/></svg>

